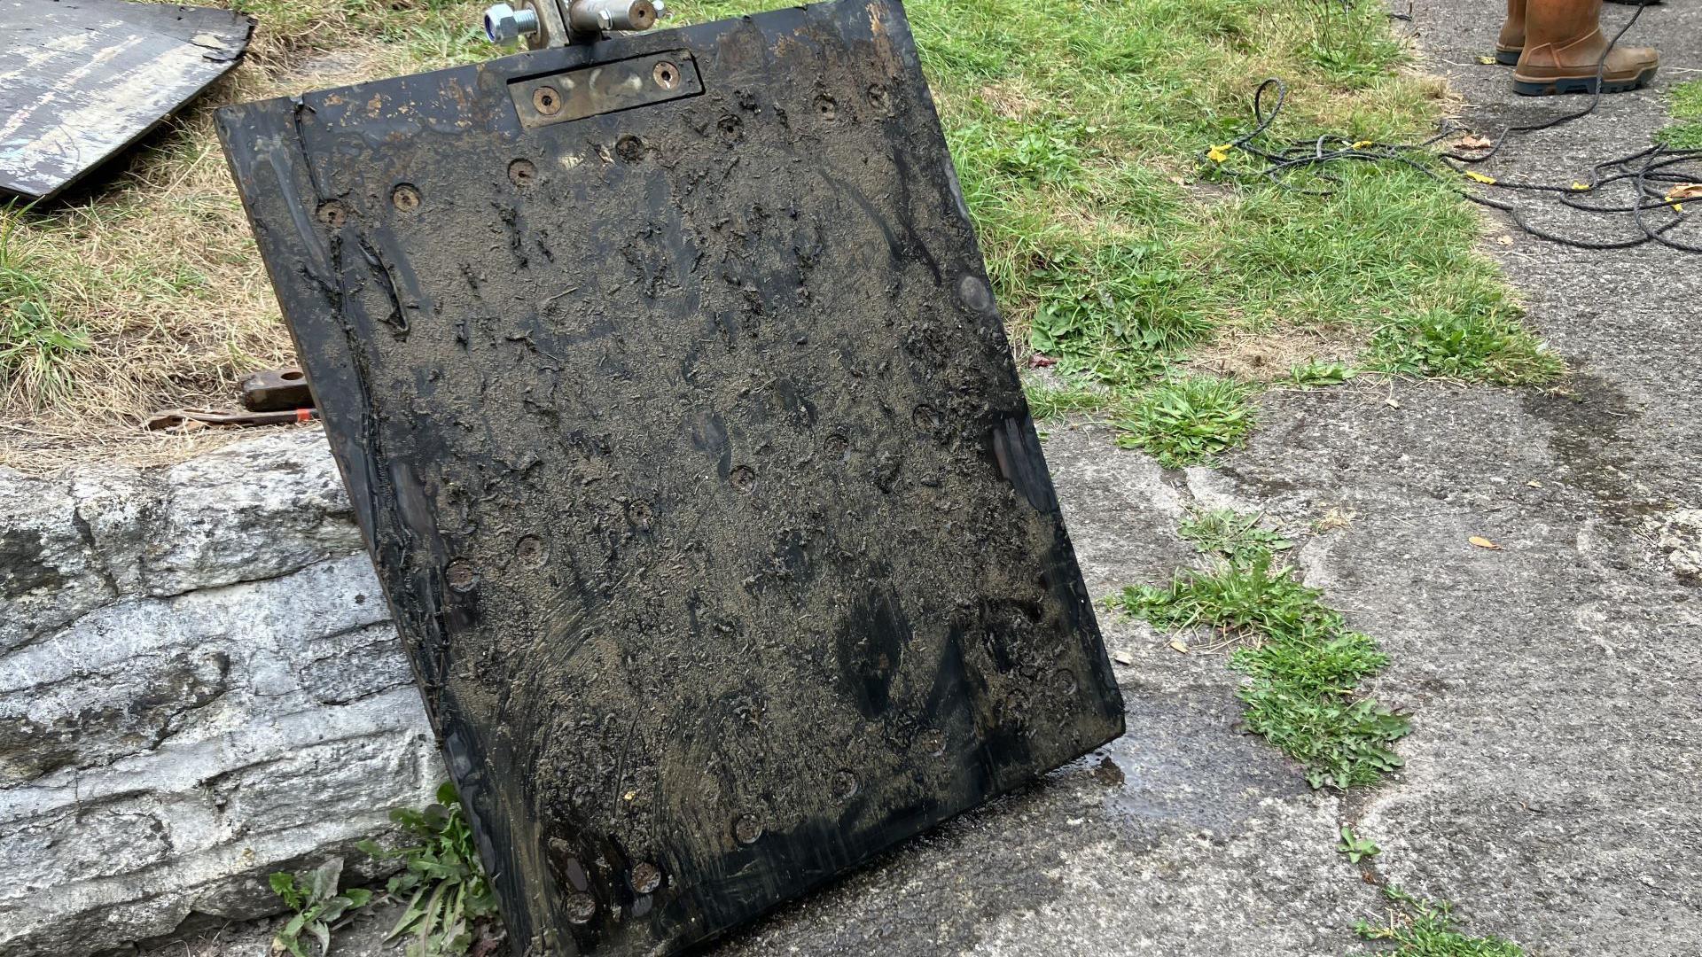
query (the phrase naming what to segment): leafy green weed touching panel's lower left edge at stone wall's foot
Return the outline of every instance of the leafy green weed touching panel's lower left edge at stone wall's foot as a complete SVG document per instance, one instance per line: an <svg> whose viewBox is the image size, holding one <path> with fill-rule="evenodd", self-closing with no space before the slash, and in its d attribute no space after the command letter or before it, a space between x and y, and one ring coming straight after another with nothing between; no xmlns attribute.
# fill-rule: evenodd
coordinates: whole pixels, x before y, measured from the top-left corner
<svg viewBox="0 0 1702 957"><path fill-rule="evenodd" d="M402 862L385 892L407 897L407 906L385 940L410 935L410 957L466 954L478 930L477 921L497 914L497 896L478 862L473 829L454 785L444 782L437 788L437 804L426 811L397 809L390 819L419 843L397 850L373 841L359 845L374 858Z"/></svg>

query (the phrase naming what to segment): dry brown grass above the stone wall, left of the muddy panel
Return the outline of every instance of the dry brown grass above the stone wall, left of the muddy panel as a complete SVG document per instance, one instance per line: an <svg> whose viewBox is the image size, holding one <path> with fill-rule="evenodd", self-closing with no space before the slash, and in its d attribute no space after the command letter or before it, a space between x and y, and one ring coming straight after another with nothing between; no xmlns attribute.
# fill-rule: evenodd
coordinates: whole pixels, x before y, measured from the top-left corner
<svg viewBox="0 0 1702 957"><path fill-rule="evenodd" d="M73 341L37 349L37 361L0 366L0 467L43 472L87 458L175 460L243 438L240 431L163 436L145 433L141 422L168 407L235 405L245 373L293 361L213 111L437 63L420 44L383 43L371 29L354 29L361 15L402 17L405 27L408 5L260 0L247 7L257 9L260 27L245 61L121 160L116 174L97 174L92 187L53 208L0 208L0 264L37 279L41 305ZM471 9L434 10L429 22L473 22Z"/></svg>

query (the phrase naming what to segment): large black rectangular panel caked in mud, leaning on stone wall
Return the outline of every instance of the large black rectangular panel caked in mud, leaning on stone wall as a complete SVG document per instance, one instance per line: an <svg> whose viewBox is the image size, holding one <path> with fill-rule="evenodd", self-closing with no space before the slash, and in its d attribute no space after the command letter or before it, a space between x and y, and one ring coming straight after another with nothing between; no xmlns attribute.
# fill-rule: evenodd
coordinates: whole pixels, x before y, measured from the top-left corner
<svg viewBox="0 0 1702 957"><path fill-rule="evenodd" d="M679 950L1122 732L897 3L220 131L516 952Z"/></svg>

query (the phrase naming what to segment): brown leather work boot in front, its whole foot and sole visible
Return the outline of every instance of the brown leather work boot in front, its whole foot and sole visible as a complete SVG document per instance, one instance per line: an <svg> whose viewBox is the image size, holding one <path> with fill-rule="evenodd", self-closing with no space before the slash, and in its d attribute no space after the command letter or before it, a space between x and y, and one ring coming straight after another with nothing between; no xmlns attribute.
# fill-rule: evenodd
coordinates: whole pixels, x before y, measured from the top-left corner
<svg viewBox="0 0 1702 957"><path fill-rule="evenodd" d="M1602 53L1607 51L1607 63ZM1527 97L1545 94L1636 90L1654 77L1661 54L1648 46L1607 48L1602 36L1602 0L1527 0L1525 51L1513 70L1513 92Z"/></svg>

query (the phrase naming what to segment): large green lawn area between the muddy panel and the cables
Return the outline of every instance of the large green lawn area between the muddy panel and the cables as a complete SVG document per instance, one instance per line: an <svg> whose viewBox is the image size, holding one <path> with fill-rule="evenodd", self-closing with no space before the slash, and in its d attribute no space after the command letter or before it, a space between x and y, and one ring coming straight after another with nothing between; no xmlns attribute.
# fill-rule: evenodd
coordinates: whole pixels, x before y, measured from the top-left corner
<svg viewBox="0 0 1702 957"><path fill-rule="evenodd" d="M677 9L708 19L764 5ZM1251 94L1270 75L1290 89L1276 136L1426 135L1442 87L1406 70L1382 7L907 9L1013 339L1057 359L1030 397L1037 415L1113 409L1125 448L1164 465L1212 461L1244 441L1265 383L1178 364L1234 334L1324 332L1363 368L1402 375L1527 383L1561 371L1476 250L1476 211L1447 186L1362 165L1333 170L1328 198L1198 182L1225 172L1202 169L1200 153L1249 126ZM1324 387L1356 371L1319 359L1278 381Z"/></svg>

